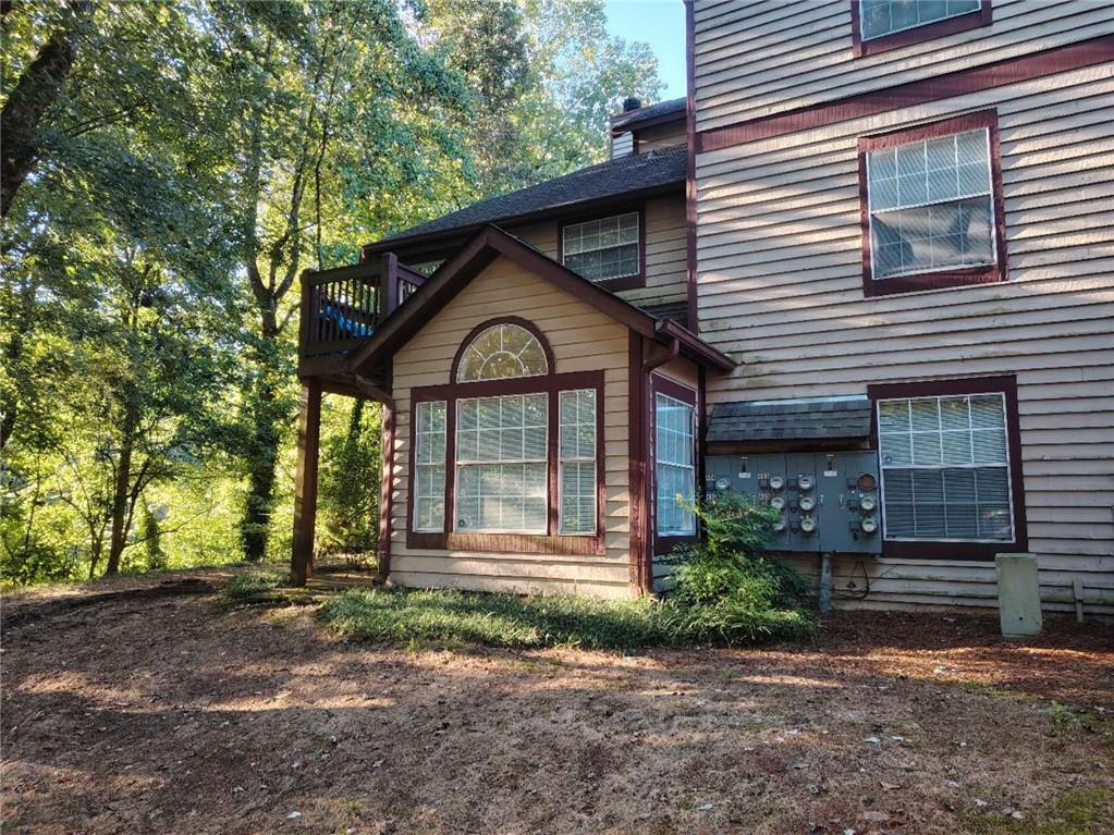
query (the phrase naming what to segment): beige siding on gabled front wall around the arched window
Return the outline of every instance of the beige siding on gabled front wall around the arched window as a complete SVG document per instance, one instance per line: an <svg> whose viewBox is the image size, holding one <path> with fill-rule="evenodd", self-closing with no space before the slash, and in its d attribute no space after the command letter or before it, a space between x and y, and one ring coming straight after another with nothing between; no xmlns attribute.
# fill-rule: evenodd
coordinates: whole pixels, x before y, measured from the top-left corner
<svg viewBox="0 0 1114 835"><path fill-rule="evenodd" d="M473 327L496 316L522 316L534 322L549 341L557 373L604 372L605 554L477 553L407 547L410 391L448 383L457 348ZM628 354L625 326L505 258L472 279L394 356L398 433L391 578L411 587L628 597Z"/></svg>

